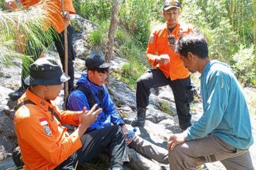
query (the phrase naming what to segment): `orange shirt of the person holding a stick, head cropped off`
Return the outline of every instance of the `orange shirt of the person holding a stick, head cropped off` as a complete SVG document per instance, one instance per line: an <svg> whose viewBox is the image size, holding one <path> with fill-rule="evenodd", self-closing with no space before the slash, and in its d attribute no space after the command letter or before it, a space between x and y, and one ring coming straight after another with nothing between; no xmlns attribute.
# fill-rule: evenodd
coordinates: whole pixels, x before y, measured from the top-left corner
<svg viewBox="0 0 256 170"><path fill-rule="evenodd" d="M41 0L21 0L22 6L29 8L35 6L37 3L43 2ZM64 21L61 16L61 0L45 0L45 9L48 10L49 25L48 28L53 26L56 32L60 33L64 31ZM72 0L64 0L64 10L69 11L70 14L76 13ZM66 21L66 25L70 25L70 21Z"/></svg>

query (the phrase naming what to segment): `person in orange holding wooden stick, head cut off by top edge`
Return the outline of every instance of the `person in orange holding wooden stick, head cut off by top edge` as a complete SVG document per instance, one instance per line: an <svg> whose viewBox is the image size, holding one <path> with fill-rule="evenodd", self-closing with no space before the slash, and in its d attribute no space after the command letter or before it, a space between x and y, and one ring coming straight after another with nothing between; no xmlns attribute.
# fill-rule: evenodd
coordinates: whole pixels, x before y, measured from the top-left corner
<svg viewBox="0 0 256 170"><path fill-rule="evenodd" d="M20 0L22 6L25 9L29 9L31 6L36 6L38 3L44 3L45 9L48 9L48 28L52 27L56 31L56 35L53 36L53 40L56 46L56 50L58 51L60 55L60 60L62 63L62 66L64 67L64 21L67 25L67 31L68 31L68 76L70 77L70 80L68 81L68 89L72 89L74 87L74 64L73 60L76 57L76 51L73 49L73 30L72 26L69 21L69 14L76 13L74 6L72 5L72 0L64 0L64 13L62 13L61 9L61 0ZM6 0L5 4L7 8L9 9L15 9L17 8L17 3L15 0ZM64 19L63 19L64 18ZM48 29L48 28L42 28L42 30ZM21 71L21 88L17 89L14 93L10 93L10 99L11 100L17 100L23 93L25 93L25 89L27 86L25 85L24 79L29 75L28 73L28 66L38 57L41 55L42 50L38 47L33 47L33 44L28 44L29 48L34 48L34 50L27 50L25 51L26 55L32 55L33 60L29 63L23 63L22 64L22 71ZM32 47L31 47L32 46ZM35 51L32 53L32 51Z"/></svg>

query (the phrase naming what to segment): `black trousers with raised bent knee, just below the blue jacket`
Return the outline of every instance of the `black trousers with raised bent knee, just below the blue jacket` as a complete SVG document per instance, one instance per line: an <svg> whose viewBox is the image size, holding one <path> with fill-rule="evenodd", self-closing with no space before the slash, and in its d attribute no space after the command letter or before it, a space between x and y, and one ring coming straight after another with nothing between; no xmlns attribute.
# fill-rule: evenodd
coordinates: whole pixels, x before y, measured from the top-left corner
<svg viewBox="0 0 256 170"><path fill-rule="evenodd" d="M82 148L68 157L66 161L55 169L74 169L76 162L81 164L95 158L105 149L109 150L111 166L116 163L129 161L127 146L120 126L104 127L100 130L83 134Z"/></svg>

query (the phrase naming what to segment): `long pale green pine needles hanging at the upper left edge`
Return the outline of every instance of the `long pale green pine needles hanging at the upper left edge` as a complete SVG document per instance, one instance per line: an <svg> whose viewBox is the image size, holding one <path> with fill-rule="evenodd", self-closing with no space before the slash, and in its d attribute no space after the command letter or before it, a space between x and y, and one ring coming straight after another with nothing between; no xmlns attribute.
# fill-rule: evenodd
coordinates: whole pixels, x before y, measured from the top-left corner
<svg viewBox="0 0 256 170"><path fill-rule="evenodd" d="M14 58L24 57L21 53L25 51L27 55L33 55L34 47L45 50L54 35L51 28L43 30L48 22L48 9L42 9L41 5L26 11L0 11L0 63L13 63L16 61Z"/></svg>

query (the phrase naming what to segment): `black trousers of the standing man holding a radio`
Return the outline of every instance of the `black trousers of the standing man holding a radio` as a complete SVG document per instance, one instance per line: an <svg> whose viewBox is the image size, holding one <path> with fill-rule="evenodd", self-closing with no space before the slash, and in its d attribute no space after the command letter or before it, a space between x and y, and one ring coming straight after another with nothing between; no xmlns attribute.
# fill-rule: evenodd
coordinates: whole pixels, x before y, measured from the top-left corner
<svg viewBox="0 0 256 170"><path fill-rule="evenodd" d="M159 69L148 70L137 81L137 108L146 108L149 105L151 88L169 85L173 90L180 128L186 129L191 126L189 103L193 100L193 94L191 90L189 90L190 84L190 77L172 81L170 78L166 78L165 74Z"/></svg>

